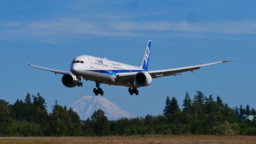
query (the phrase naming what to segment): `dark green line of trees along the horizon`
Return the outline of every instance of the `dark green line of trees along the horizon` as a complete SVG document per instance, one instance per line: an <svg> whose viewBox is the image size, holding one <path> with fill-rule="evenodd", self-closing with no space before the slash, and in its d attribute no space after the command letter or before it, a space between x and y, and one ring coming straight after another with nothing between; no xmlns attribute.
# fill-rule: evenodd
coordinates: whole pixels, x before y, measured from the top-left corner
<svg viewBox="0 0 256 144"><path fill-rule="evenodd" d="M108 120L103 110L96 110L87 120L55 101L47 112L45 99L28 93L14 104L0 99L0 136L109 136L144 134L220 134L256 135L256 120L242 120L256 115L254 108L242 105L230 108L220 96L205 96L197 91L186 93L182 108L175 97L166 97L162 114Z"/></svg>

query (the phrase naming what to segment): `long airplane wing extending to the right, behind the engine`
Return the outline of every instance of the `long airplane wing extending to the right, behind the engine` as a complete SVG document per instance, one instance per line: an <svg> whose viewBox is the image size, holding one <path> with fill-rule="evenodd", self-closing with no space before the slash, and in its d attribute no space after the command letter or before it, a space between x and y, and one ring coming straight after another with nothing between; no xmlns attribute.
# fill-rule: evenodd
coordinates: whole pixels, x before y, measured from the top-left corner
<svg viewBox="0 0 256 144"><path fill-rule="evenodd" d="M236 58L232 59L232 60L236 60ZM173 69L167 69L167 70L153 70L153 71L148 71L148 73L151 75L152 78L158 78L158 77L162 77L162 76L176 76L178 74L183 74L182 72L187 72L187 71L193 72L193 70L198 70L202 66L209 66L212 64L220 64L220 63L224 63L224 62L230 62L232 60L224 60L221 62L213 62L213 63L201 64L201 65L197 65L197 66L187 66L187 67L183 67L183 68L173 68ZM138 72L126 72L126 73L120 73L117 76L120 79L128 80L130 78L134 78L134 76L137 73Z"/></svg>

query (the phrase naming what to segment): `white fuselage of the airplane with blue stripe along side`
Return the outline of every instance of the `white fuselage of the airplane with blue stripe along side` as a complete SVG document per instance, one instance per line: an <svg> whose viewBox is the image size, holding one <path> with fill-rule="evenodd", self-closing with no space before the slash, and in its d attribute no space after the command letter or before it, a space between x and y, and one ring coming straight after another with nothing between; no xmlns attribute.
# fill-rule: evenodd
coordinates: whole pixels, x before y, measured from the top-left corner
<svg viewBox="0 0 256 144"><path fill-rule="evenodd" d="M81 61L83 63L81 63ZM118 78L117 74L123 72L141 72L145 70L137 66L107 60L106 58L81 55L74 58L70 66L70 71L77 77L82 76L84 80L132 87L128 80Z"/></svg>

